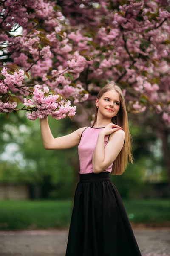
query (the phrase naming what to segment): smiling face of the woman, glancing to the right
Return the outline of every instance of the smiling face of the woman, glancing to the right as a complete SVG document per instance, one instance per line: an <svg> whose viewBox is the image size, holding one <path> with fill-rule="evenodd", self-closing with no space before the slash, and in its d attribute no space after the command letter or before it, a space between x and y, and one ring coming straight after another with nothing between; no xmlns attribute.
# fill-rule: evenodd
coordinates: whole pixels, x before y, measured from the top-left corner
<svg viewBox="0 0 170 256"><path fill-rule="evenodd" d="M120 98L119 93L115 90L109 90L100 97L96 99L96 107L104 116L113 117L119 111L120 108ZM112 111L107 110L110 108Z"/></svg>

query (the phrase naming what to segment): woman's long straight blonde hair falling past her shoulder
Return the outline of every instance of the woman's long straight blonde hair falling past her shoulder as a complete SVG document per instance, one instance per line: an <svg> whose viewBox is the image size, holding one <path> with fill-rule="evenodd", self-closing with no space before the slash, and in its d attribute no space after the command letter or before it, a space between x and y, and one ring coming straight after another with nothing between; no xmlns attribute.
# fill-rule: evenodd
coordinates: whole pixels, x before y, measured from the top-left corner
<svg viewBox="0 0 170 256"><path fill-rule="evenodd" d="M129 126L128 126L128 116L127 116L125 99L120 87L116 85L116 83L112 83L112 82L108 83L99 91L97 98L100 99L103 93L106 93L109 90L115 90L116 92L118 92L119 98L120 98L119 111L117 113L117 116L112 117L111 121L114 124L121 126L123 128L123 131L125 131L125 143L119 155L114 160L112 171L111 171L112 175L121 175L125 171L128 165L128 161L130 163L133 163L132 146L131 146L132 137L130 135ZM98 112L98 108L96 107L93 125L97 120L97 112Z"/></svg>

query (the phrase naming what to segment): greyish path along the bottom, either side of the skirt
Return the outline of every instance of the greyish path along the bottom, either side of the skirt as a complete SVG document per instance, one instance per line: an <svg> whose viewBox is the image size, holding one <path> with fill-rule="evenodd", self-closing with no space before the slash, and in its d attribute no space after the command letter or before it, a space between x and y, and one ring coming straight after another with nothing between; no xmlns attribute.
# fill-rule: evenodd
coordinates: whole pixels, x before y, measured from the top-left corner
<svg viewBox="0 0 170 256"><path fill-rule="evenodd" d="M169 229L134 229L142 256L170 256ZM0 256L65 256L67 230L0 231Z"/></svg>

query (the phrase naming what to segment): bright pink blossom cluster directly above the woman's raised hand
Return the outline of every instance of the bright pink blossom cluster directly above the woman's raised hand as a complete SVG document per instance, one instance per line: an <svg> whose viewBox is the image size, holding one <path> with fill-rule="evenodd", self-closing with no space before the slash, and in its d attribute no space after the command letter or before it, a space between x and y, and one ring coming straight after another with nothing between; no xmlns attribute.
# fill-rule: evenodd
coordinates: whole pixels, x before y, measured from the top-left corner
<svg viewBox="0 0 170 256"><path fill-rule="evenodd" d="M45 93L48 96L45 96ZM26 113L29 120L36 120L37 118L43 119L45 116L51 115L56 120L65 118L66 115L74 116L76 113L76 106L71 107L71 102L68 100L59 99L59 95L49 94L47 86L40 89L40 85L34 86L33 97L24 98L23 105L32 107L31 113Z"/></svg>

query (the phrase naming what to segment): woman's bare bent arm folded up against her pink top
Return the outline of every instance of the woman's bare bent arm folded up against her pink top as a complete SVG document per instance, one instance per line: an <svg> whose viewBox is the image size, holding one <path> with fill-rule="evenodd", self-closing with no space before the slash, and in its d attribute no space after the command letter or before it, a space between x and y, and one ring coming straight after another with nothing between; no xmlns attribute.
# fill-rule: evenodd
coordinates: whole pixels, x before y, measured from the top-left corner
<svg viewBox="0 0 170 256"><path fill-rule="evenodd" d="M120 153L125 139L125 132L118 130L110 135L110 140L104 148L105 134L99 133L96 148L93 154L93 172L99 173L105 170L113 163Z"/></svg>

